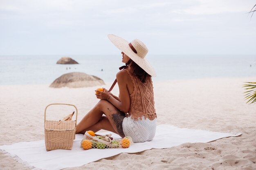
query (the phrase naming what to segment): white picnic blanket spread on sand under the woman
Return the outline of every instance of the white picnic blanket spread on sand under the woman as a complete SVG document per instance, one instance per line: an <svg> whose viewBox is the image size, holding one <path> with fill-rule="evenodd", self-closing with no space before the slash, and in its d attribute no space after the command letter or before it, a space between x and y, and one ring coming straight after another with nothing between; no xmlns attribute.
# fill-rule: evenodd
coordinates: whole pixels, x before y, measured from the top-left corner
<svg viewBox="0 0 256 170"><path fill-rule="evenodd" d="M99 133L102 135L109 132ZM112 133L113 134L113 133ZM115 149L89 149L80 148L83 135L76 135L72 150L45 150L45 141L19 142L12 145L2 145L0 150L9 152L13 157L18 157L20 162L30 168L43 170L60 170L68 167L82 166L86 163L97 161L102 158L111 157L120 153L135 153L152 148L170 148L183 143L210 142L223 137L239 136L242 133L231 134L222 132L211 132L207 130L193 130L177 128L171 125L159 125L152 141L132 144L129 148ZM114 139L120 136L113 134Z"/></svg>

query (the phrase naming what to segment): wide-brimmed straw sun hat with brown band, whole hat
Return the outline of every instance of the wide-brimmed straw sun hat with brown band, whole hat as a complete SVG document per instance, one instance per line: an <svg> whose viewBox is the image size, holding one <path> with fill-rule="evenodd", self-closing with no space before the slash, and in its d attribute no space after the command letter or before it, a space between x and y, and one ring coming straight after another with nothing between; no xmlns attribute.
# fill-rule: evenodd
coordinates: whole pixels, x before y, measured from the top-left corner
<svg viewBox="0 0 256 170"><path fill-rule="evenodd" d="M156 77L156 73L151 64L146 60L148 48L141 40L134 39L130 43L117 35L108 34L109 40L132 61L138 64L149 75Z"/></svg>

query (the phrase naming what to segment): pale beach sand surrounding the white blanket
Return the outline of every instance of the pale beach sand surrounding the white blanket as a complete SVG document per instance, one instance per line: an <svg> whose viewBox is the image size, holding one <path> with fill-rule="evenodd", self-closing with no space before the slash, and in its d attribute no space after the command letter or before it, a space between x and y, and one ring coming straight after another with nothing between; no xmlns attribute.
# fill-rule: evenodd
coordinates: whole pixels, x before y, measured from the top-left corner
<svg viewBox="0 0 256 170"><path fill-rule="evenodd" d="M136 154L122 153L67 169L255 170L256 105L245 104L245 90L242 88L243 82L255 80L256 77L154 82L157 124L218 132L243 132L240 137L210 143L186 143ZM109 88L110 85L108 83L104 87ZM94 96L95 88L0 86L0 145L44 139L44 109L50 103L76 105L80 121L98 101ZM112 92L118 95L117 86ZM69 114L63 107L57 106L49 108L47 113L49 119L60 119ZM29 169L5 153L0 153L0 160L1 170Z"/></svg>

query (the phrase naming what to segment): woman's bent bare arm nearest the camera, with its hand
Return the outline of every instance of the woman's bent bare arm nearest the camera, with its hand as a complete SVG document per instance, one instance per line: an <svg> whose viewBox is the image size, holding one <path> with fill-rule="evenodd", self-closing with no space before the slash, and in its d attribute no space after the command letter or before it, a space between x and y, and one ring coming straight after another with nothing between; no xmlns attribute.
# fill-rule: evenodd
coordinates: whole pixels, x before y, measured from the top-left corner
<svg viewBox="0 0 256 170"><path fill-rule="evenodd" d="M97 91L99 94L97 95L97 98L99 99L107 99L108 102L113 104L116 108L119 110L128 113L130 110L130 95L127 89L127 83L126 83L126 71L119 71L117 73L117 83L119 86L119 95L120 98L116 99L110 93L108 92L101 92Z"/></svg>

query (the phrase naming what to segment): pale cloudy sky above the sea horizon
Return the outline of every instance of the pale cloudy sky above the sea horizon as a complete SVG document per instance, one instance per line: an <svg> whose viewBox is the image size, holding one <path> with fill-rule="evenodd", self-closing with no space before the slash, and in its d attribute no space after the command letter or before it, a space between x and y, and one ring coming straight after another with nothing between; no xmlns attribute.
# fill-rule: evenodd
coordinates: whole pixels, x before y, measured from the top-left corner
<svg viewBox="0 0 256 170"><path fill-rule="evenodd" d="M0 0L0 55L256 55L255 0Z"/></svg>

